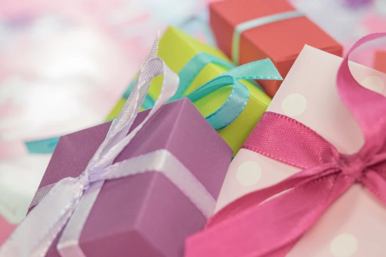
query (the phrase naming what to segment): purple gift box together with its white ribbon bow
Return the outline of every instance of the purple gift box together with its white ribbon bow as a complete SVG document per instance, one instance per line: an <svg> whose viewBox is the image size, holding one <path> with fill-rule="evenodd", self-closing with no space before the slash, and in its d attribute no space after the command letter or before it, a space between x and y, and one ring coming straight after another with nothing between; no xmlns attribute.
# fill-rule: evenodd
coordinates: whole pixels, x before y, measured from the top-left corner
<svg viewBox="0 0 386 257"><path fill-rule="evenodd" d="M179 80L155 56L157 39L118 117L60 137L0 257L183 256L214 211L232 150L189 99L164 104ZM159 98L139 113L159 74Z"/></svg>

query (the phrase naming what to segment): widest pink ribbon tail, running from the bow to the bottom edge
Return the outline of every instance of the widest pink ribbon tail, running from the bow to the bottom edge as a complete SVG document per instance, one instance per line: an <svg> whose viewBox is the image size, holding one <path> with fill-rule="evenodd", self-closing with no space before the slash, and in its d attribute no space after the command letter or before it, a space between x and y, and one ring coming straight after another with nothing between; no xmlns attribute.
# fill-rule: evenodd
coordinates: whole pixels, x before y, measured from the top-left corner
<svg viewBox="0 0 386 257"><path fill-rule="evenodd" d="M185 257L283 257L352 183L325 176L250 207L188 238Z"/></svg>

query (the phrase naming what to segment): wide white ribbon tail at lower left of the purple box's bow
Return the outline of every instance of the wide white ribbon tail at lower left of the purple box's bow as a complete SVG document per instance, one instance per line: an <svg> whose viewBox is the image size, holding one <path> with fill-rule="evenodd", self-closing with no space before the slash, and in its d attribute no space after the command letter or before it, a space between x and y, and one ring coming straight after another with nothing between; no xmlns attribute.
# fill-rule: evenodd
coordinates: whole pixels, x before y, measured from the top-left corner
<svg viewBox="0 0 386 257"><path fill-rule="evenodd" d="M44 257L82 196L76 178L65 178L15 229L0 249L0 257Z"/></svg>

